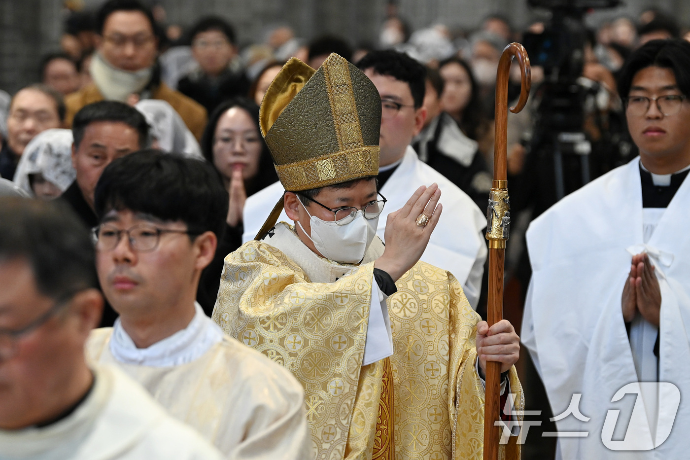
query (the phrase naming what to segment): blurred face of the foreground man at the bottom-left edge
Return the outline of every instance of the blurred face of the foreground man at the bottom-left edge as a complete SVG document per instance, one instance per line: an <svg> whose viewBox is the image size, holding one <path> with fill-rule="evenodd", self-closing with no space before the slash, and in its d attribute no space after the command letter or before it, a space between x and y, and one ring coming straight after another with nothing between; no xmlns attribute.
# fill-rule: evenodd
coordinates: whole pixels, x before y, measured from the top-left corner
<svg viewBox="0 0 690 460"><path fill-rule="evenodd" d="M39 292L23 258L0 262L0 429L17 430L58 416L88 329L63 304ZM34 327L29 327L29 325ZM19 333L22 329L25 332Z"/></svg>

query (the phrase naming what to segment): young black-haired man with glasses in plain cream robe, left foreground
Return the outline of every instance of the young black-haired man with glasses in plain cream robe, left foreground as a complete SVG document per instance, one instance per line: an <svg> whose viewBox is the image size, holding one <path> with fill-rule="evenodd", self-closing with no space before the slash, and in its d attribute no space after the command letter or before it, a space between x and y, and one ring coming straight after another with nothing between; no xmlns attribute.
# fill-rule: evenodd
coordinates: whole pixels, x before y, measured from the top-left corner
<svg viewBox="0 0 690 460"><path fill-rule="evenodd" d="M98 276L120 316L92 332L88 356L120 367L230 459L305 459L302 386L195 302L228 209L213 167L132 153L103 171L95 198Z"/></svg>

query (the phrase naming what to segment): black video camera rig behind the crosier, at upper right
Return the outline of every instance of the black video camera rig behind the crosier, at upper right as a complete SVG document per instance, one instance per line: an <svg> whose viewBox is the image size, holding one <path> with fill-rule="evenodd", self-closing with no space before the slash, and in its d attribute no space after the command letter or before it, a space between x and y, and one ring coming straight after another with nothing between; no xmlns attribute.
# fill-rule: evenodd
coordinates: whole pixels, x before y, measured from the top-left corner
<svg viewBox="0 0 690 460"><path fill-rule="evenodd" d="M553 204L611 168L611 161L595 155L593 150L612 149L602 142L593 147L584 132L585 119L591 115L591 107L595 106L592 101L596 100L600 86L582 78L589 33L583 18L591 10L614 8L622 1L527 0L527 3L532 8L551 12L551 21L544 32L526 33L522 43L532 66L544 68L544 83L535 91L540 100L536 127L527 147L533 155L552 165L549 169L554 174L555 193L553 201L550 200ZM609 130L602 126L602 131ZM540 166L546 164L542 162Z"/></svg>

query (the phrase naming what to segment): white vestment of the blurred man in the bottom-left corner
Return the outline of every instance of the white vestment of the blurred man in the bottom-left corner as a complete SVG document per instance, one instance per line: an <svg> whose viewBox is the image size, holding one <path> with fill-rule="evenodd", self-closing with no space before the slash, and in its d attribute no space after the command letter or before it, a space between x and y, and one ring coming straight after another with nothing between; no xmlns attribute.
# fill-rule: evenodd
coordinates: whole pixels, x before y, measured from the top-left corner
<svg viewBox="0 0 690 460"><path fill-rule="evenodd" d="M94 386L65 419L0 430L3 460L219 460L208 441L153 401L121 370L92 367Z"/></svg>

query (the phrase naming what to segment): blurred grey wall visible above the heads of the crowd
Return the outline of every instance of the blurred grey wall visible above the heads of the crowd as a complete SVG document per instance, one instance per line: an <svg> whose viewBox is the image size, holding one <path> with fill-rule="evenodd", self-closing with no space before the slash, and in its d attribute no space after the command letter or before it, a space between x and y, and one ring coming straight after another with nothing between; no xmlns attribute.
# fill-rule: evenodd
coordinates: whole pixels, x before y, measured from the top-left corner
<svg viewBox="0 0 690 460"><path fill-rule="evenodd" d="M100 0L83 0L96 7ZM12 93L37 79L39 56L55 50L63 32L62 0L0 0L0 88ZM311 39L325 32L342 35L353 45L375 43L386 17L388 0L159 0L168 23L189 26L202 15L230 19L239 44L262 41L271 26L291 26L298 37ZM688 0L626 0L625 6L594 12L587 23L607 18L636 17L642 8L657 6L690 23ZM526 0L400 0L398 12L412 30L444 23L451 30L471 31L482 18L499 12L517 29L540 17Z"/></svg>

